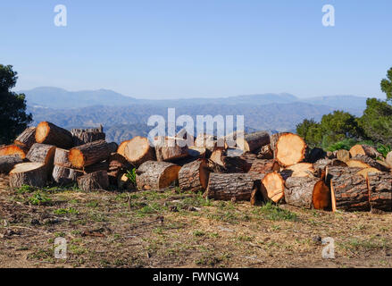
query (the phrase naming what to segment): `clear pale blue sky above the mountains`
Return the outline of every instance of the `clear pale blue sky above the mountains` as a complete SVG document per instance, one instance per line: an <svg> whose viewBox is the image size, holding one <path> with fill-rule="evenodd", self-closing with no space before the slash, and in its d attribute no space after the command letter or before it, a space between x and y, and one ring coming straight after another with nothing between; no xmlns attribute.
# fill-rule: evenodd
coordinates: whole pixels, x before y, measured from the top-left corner
<svg viewBox="0 0 392 286"><path fill-rule="evenodd" d="M65 4L68 26L54 26ZM323 27L333 4L336 26ZM391 0L2 0L0 63L15 89L140 98L288 92L383 97Z"/></svg>

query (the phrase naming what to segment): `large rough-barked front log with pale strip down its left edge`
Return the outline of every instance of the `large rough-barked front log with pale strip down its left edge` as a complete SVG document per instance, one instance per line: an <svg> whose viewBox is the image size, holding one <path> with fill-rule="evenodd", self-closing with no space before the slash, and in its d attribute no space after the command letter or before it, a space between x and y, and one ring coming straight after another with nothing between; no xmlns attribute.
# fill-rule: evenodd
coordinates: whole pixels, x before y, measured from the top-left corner
<svg viewBox="0 0 392 286"><path fill-rule="evenodd" d="M327 168L333 212L371 210L366 179L357 174L359 171L358 168Z"/></svg>

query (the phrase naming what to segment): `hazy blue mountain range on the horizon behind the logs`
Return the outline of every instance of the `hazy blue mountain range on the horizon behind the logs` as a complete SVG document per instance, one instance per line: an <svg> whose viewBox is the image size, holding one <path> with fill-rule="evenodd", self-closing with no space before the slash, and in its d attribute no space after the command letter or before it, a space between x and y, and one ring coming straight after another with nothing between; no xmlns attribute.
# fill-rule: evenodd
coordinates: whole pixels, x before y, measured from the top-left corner
<svg viewBox="0 0 392 286"><path fill-rule="evenodd" d="M62 88L21 90L26 94L33 124L50 121L67 129L103 124L108 140L121 142L137 135L146 136L152 114L165 118L168 107L176 115L245 115L246 130L293 131L305 118L320 120L323 114L345 110L361 115L366 97L332 96L298 98L290 94L261 94L219 98L168 100L138 99L113 90L67 91Z"/></svg>

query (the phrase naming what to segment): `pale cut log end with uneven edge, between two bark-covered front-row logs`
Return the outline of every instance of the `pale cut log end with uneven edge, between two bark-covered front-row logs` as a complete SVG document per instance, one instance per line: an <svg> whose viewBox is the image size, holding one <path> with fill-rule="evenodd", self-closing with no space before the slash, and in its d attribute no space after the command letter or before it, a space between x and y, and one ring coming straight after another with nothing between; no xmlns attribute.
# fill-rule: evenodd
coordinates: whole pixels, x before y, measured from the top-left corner
<svg viewBox="0 0 392 286"><path fill-rule="evenodd" d="M285 195L285 179L279 172L266 174L262 181L261 191L265 201L278 203Z"/></svg>

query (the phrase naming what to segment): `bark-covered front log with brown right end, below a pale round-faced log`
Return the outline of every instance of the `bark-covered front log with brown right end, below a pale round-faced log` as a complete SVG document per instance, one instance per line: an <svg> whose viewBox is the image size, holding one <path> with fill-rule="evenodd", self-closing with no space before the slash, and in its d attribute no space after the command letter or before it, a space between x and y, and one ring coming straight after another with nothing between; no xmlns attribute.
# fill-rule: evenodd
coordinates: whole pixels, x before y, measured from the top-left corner
<svg viewBox="0 0 392 286"><path fill-rule="evenodd" d="M138 167L136 183L138 189L163 189L179 180L181 167L169 162L146 161Z"/></svg>

